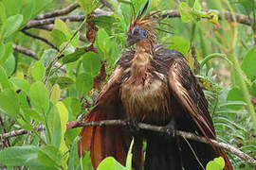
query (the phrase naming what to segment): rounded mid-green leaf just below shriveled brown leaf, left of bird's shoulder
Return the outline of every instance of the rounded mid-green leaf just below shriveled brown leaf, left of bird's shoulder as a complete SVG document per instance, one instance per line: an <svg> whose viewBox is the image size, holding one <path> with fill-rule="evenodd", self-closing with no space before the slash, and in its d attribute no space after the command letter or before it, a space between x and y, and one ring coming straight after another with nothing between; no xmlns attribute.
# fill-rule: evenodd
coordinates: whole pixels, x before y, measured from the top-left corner
<svg viewBox="0 0 256 170"><path fill-rule="evenodd" d="M86 75L98 76L101 70L101 59L98 54L88 52L82 55L82 65Z"/></svg>

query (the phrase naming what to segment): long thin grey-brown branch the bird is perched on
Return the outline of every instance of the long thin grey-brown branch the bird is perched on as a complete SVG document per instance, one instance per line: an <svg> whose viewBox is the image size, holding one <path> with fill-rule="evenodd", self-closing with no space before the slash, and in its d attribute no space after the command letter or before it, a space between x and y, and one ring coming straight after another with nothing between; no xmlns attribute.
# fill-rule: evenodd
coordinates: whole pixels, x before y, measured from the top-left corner
<svg viewBox="0 0 256 170"><path fill-rule="evenodd" d="M127 127L127 124L125 121L121 120L105 120L101 122L84 122L84 121L78 121L78 122L69 122L67 123L67 129L69 128L75 128L75 127L104 127L104 126L122 126ZM166 129L165 127L157 127L153 125L148 124L142 124L138 123L137 126L141 129L146 130L152 130L160 133L165 133L167 135L170 135L170 129ZM196 136L195 134L192 134L190 132L180 131L180 130L174 130L175 135L181 136L186 139L191 139L197 142L209 144L208 140L205 137ZM172 134L172 133L171 133ZM171 137L172 135L170 135ZM239 149L235 148L234 146L230 144L221 143L215 140L210 139L211 143L214 144L217 147L224 148L225 150L229 151L229 153L232 153L239 158L249 162L251 165L256 167L256 160L252 159L250 156L248 156L246 153L240 151Z"/></svg>

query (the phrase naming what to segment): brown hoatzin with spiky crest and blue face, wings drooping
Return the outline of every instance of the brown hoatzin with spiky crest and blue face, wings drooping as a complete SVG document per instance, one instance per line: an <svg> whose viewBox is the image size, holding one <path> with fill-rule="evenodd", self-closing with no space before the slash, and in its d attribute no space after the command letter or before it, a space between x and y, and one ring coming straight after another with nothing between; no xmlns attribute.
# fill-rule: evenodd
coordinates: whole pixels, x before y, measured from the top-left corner
<svg viewBox="0 0 256 170"><path fill-rule="evenodd" d="M138 12L127 33L125 46L97 103L86 121L132 120L166 126L216 140L208 103L196 78L181 53L158 44L153 14L143 17L148 2ZM132 132L131 132L132 131ZM125 127L83 127L78 142L79 154L91 148L96 169L106 157L125 164L134 136L133 167L145 170L199 170L216 157L225 159L225 170L232 170L223 149L181 137L145 131L139 135ZM147 142L145 161L143 141Z"/></svg>

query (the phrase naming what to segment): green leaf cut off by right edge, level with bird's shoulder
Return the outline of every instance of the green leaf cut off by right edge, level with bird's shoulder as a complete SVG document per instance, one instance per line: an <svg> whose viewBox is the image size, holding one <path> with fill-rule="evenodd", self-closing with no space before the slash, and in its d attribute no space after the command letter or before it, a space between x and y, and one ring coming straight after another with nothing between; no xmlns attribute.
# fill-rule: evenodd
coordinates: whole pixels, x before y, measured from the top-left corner
<svg viewBox="0 0 256 170"><path fill-rule="evenodd" d="M254 80L256 78L256 46L251 48L248 52L246 57L243 59L242 62L242 70L245 72L247 77L250 80Z"/></svg>

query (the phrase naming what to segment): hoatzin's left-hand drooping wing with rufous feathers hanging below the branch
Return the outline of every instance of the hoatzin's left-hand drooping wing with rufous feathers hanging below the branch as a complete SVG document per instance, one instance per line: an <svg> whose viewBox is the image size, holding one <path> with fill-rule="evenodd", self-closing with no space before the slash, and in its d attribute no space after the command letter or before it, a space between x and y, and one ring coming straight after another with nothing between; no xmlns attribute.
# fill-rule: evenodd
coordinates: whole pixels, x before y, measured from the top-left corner
<svg viewBox="0 0 256 170"><path fill-rule="evenodd" d="M122 58L123 59L123 58ZM125 112L121 108L119 99L120 77L123 68L118 63L109 81L106 83L94 108L84 117L85 121L119 120L125 119ZM96 169L100 162L106 157L112 156L121 164L125 164L127 152L132 141L132 135L124 127L83 127L78 142L80 156L84 151L91 148L91 160ZM142 141L134 144L133 152L142 153ZM141 155L142 156L142 155ZM137 166L141 164L140 159L133 159Z"/></svg>

